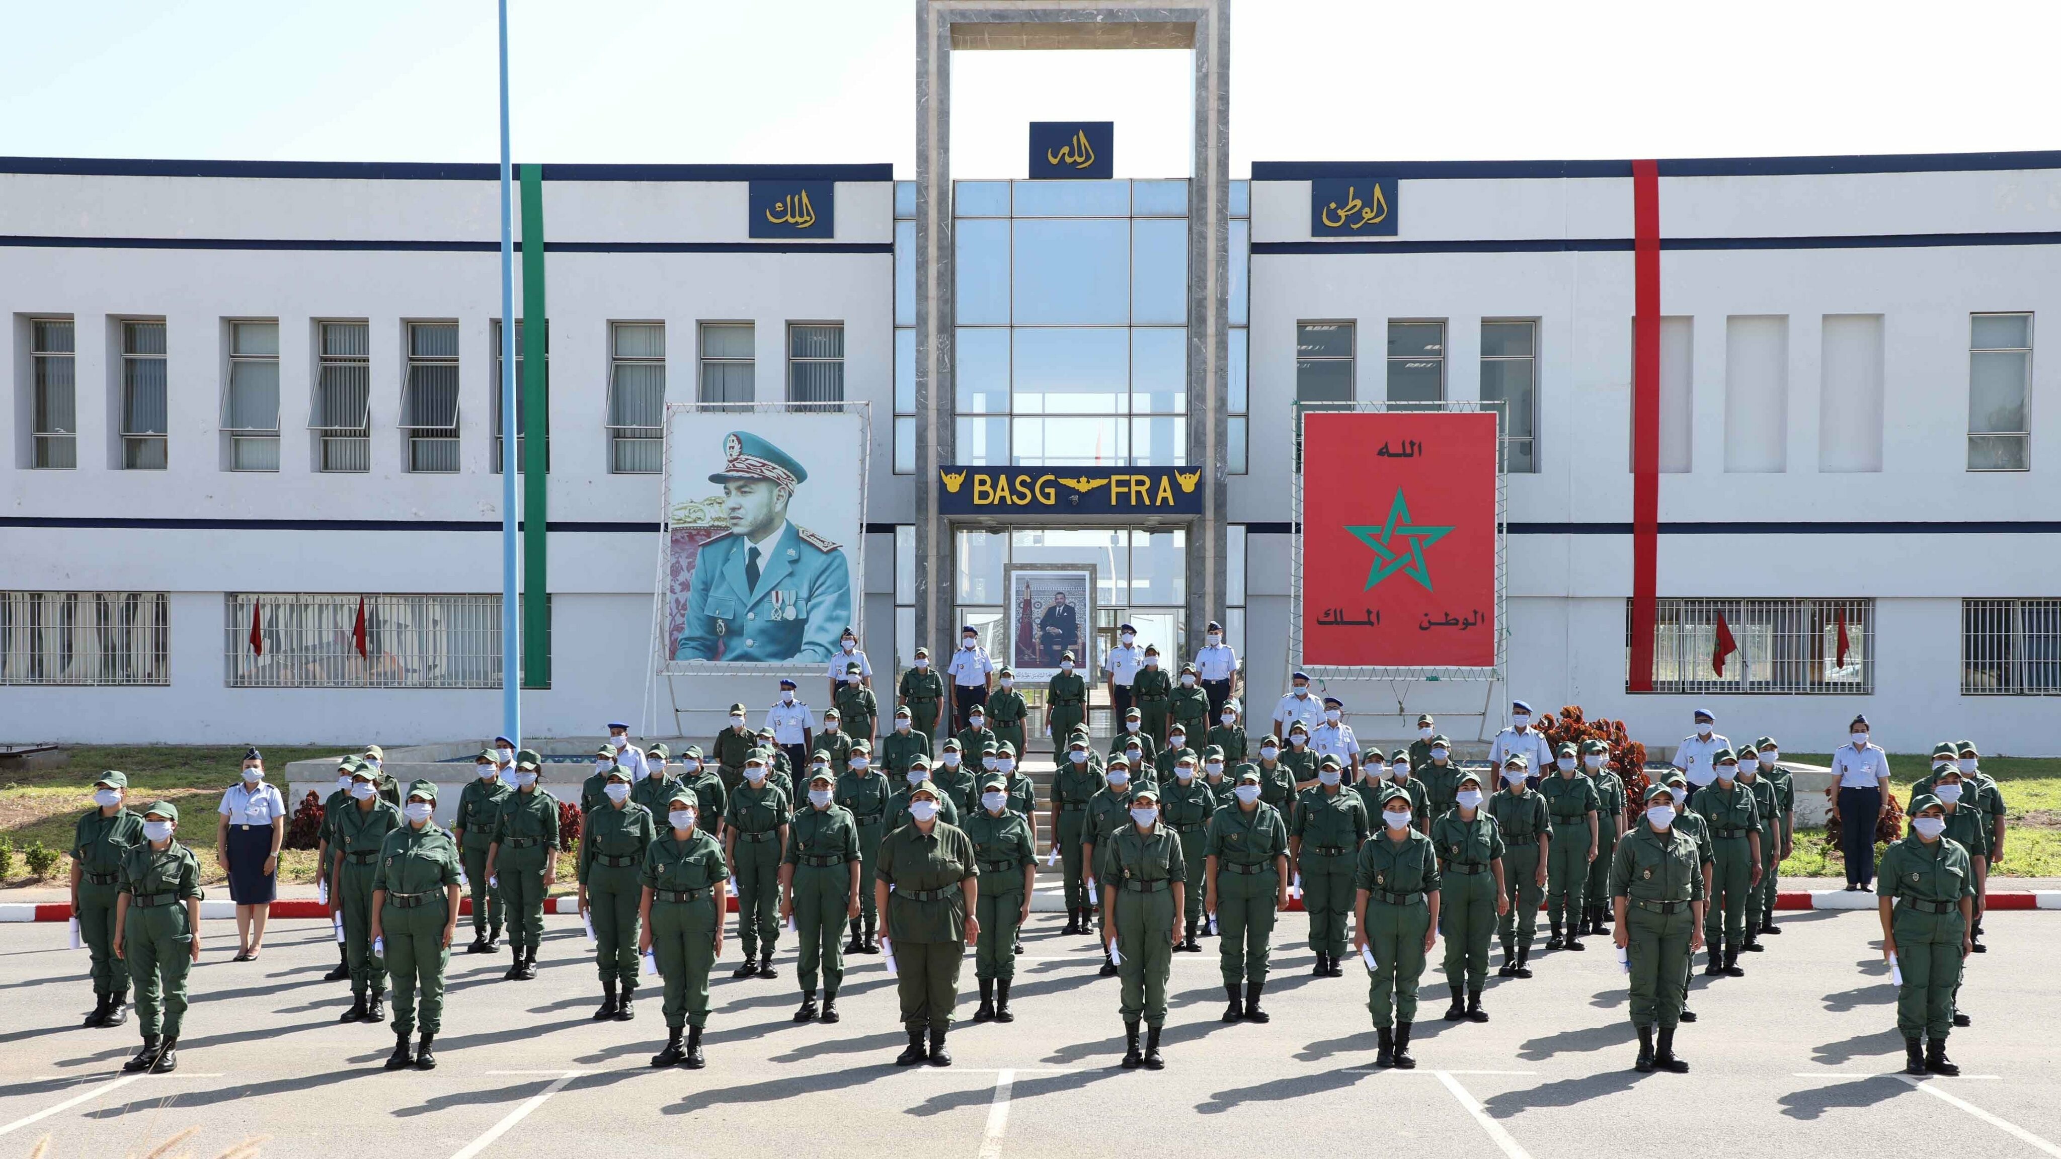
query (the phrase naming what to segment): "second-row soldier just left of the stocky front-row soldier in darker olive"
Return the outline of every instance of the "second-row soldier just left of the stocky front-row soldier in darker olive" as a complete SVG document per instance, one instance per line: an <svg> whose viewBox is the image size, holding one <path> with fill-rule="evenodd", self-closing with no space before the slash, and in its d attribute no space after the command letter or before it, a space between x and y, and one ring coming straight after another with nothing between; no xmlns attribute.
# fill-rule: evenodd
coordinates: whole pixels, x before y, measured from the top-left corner
<svg viewBox="0 0 2061 1159"><path fill-rule="evenodd" d="M787 856L781 858L781 920L793 926L802 955L793 975L802 984L802 1008L793 1021L816 1017L816 975L822 975L822 1021L837 1021L837 988L845 982L845 922L859 920L859 827L851 810L837 804L837 777L829 765L808 775L808 804L787 825Z"/></svg>

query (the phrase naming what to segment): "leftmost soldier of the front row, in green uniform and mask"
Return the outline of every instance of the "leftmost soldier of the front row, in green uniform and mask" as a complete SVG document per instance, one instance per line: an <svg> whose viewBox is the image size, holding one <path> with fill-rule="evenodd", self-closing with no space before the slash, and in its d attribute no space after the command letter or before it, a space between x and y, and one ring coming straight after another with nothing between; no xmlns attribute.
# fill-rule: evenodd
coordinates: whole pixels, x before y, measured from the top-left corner
<svg viewBox="0 0 2061 1159"><path fill-rule="evenodd" d="M173 839L179 806L169 800L142 810L142 841L122 850L115 889L115 957L136 986L136 1029L142 1050L122 1064L136 1074L179 1066L185 1023L185 975L200 961L200 858Z"/></svg>

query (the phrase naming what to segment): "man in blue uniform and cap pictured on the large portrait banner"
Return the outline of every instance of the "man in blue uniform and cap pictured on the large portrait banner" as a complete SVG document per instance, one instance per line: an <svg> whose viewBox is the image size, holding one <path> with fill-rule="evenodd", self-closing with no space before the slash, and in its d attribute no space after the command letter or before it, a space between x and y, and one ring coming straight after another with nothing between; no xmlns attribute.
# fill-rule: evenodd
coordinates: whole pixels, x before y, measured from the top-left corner
<svg viewBox="0 0 2061 1159"><path fill-rule="evenodd" d="M674 660L826 664L851 623L851 571L835 542L787 522L808 470L750 431L723 437L723 460L709 483L723 485L730 534L695 557Z"/></svg>

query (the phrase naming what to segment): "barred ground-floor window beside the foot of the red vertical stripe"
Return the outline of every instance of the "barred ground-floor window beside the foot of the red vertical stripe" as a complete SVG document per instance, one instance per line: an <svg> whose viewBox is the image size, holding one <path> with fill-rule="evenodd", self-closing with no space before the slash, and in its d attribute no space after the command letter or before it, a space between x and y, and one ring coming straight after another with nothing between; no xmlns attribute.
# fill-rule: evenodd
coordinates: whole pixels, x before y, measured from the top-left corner
<svg viewBox="0 0 2061 1159"><path fill-rule="evenodd" d="M1731 637L1723 674L1717 670L1721 635ZM1632 602L1626 600L1626 672L1630 650ZM1653 691L1869 695L1876 691L1876 602L1659 600L1653 615Z"/></svg>

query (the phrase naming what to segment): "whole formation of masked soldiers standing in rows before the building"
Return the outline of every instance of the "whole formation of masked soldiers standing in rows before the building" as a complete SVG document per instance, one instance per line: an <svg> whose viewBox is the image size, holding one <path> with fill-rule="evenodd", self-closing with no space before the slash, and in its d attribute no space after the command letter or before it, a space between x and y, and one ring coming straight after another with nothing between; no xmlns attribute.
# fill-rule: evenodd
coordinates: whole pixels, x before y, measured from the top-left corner
<svg viewBox="0 0 2061 1159"><path fill-rule="evenodd" d="M948 1066L965 945L975 947L973 1021L1016 1017L1010 986L1041 819L1047 864L1063 862L1063 934L1096 936L1101 973L1119 978L1123 1066L1164 1066L1171 961L1208 936L1218 938L1222 1021L1265 1023L1274 922L1292 897L1309 914L1313 975L1342 978L1348 940L1364 963L1377 1066L1397 1068L1416 1066L1412 1025L1441 934L1443 1019L1472 1023L1490 1019L1482 990L1496 940L1498 978L1533 975L1542 903L1546 951L1610 936L1628 973L1636 1068L1684 1072L1676 1029L1696 1019L1686 1004L1694 953L1704 951L1707 975L1739 978L1742 953L1781 932L1775 866L1793 837L1789 773L1775 738L1733 749L1707 711L1676 767L1632 802L1603 742L1548 747L1525 701L1511 705L1490 769L1463 769L1430 716L1408 749L1362 753L1336 699L1305 709L1317 697L1300 672L1276 732L1257 740L1235 697L1212 705L1185 678L1146 683L1164 695L1131 703L1096 751L1072 660L1047 689L1049 800L1022 771L1030 714L1008 668L967 705L965 726L936 740L942 689L927 666L903 678L876 738L864 660L845 662L820 728L793 681L781 681L756 730L742 703L730 705L707 753L639 747L627 724L610 724L579 788L575 856L602 990L594 1017L635 1019L641 982L657 975L668 1041L651 1064L703 1066L709 973L736 897L732 978L777 978L775 947L791 932L793 1019L835 1023L845 955L882 955L909 1033L897 1062ZM1960 961L1981 951L1983 868L2001 846L2001 800L1976 759L1968 742L1937 749L1913 786L1911 835L1882 858L1882 928L1913 1072L1956 1074L1944 1044L1968 1025L1954 1004ZM536 978L563 846L559 802L540 788L544 759L505 736L474 767L447 831L431 819L437 786L402 792L377 749L340 761L326 802L319 891L340 955L328 980L350 984L346 1023L383 1021L392 992L387 1068L435 1066L466 893L474 936L464 953L499 951L505 930L503 978ZM74 846L74 905L99 998L87 1025L120 1025L134 980L144 1048L128 1068L171 1070L185 969L200 953L198 862L173 837L175 806L130 813L117 771L95 788Z"/></svg>

